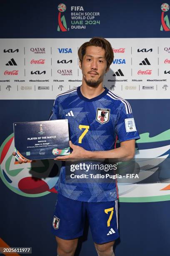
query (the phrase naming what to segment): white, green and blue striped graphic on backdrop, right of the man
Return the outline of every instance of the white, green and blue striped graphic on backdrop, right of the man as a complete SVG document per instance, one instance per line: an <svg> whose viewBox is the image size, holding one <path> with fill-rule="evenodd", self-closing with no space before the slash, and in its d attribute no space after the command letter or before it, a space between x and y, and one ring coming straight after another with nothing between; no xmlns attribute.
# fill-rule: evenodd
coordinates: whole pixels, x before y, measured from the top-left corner
<svg viewBox="0 0 170 256"><path fill-rule="evenodd" d="M120 202L159 202L170 200L170 129L150 137L140 134L135 151L139 179L118 180ZM131 167L131 166L130 166ZM123 162L120 170L123 170ZM125 168L127 171L127 169Z"/></svg>

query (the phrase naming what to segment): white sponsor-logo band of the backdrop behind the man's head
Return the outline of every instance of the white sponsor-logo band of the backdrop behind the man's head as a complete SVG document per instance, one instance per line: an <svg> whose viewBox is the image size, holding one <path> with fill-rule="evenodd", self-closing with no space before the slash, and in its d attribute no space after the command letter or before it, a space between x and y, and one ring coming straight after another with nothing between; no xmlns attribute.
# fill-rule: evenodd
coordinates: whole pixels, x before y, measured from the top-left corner
<svg viewBox="0 0 170 256"><path fill-rule="evenodd" d="M105 87L126 99L170 99L169 38L107 39L115 64ZM89 39L0 39L0 99L55 99L80 86L77 49L85 41Z"/></svg>

